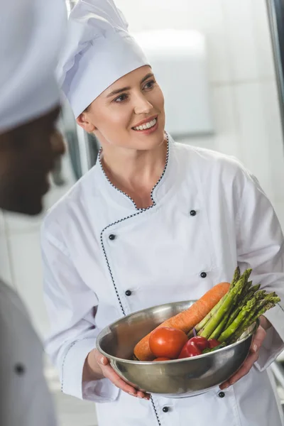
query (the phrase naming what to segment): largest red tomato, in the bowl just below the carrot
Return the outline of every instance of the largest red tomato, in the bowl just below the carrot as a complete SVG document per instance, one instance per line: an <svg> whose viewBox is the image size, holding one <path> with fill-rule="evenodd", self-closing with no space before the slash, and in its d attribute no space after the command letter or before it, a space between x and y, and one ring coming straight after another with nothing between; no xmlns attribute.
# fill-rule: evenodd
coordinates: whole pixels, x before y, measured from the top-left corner
<svg viewBox="0 0 284 426"><path fill-rule="evenodd" d="M149 346L155 356L175 359L185 342L187 342L187 335L182 330L159 327L151 333Z"/></svg>

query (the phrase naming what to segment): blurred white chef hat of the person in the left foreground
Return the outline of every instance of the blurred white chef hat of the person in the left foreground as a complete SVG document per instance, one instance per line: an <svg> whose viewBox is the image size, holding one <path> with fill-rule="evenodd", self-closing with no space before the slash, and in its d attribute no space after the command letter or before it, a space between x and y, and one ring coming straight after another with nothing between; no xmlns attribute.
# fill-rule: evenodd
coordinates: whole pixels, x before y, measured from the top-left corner
<svg viewBox="0 0 284 426"><path fill-rule="evenodd" d="M0 13L0 133L59 102L55 80L64 0L8 0Z"/></svg>

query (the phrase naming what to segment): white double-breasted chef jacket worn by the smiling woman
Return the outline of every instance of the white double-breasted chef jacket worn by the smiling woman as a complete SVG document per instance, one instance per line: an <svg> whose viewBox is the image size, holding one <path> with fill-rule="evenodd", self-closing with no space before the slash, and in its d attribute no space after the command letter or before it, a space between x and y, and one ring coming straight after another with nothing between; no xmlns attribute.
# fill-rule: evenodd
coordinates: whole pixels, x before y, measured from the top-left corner
<svg viewBox="0 0 284 426"><path fill-rule="evenodd" d="M284 349L283 234L271 203L234 158L171 138L152 199L153 207L137 209L98 162L45 219L47 350L62 391L99 403L99 426L284 425L266 371ZM197 299L231 280L237 264L253 268L253 282L283 300L267 313L273 327L241 381L224 394L217 387L193 398L153 395L152 401L133 398L105 378L82 385L84 360L107 324L153 305Z"/></svg>

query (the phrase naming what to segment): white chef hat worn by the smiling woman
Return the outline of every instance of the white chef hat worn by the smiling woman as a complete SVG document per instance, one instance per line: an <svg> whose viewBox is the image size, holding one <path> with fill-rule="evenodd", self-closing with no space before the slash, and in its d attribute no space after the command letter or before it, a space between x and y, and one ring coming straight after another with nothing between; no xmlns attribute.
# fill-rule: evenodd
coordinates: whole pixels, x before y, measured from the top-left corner
<svg viewBox="0 0 284 426"><path fill-rule="evenodd" d="M79 0L72 9L58 81L76 118L116 80L149 65L127 28L113 0Z"/></svg>

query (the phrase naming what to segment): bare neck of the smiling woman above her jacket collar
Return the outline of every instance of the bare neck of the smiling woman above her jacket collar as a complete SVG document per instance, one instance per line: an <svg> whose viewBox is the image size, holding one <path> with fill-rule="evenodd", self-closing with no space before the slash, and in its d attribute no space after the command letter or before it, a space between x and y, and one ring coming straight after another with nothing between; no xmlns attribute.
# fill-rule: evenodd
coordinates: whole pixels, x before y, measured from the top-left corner
<svg viewBox="0 0 284 426"><path fill-rule="evenodd" d="M115 187L145 207L165 168L167 148L165 139L149 151L106 146L102 149L102 167Z"/></svg>

